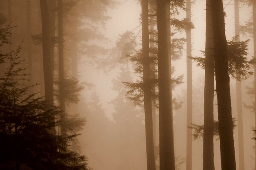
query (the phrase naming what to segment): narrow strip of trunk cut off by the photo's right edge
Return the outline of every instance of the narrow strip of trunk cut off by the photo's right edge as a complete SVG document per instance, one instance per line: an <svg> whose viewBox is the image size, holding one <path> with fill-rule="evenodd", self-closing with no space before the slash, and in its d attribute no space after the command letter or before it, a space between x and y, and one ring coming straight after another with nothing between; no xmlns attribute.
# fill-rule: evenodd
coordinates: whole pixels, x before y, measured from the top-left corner
<svg viewBox="0 0 256 170"><path fill-rule="evenodd" d="M253 57L256 59L256 0L253 0ZM254 65L254 110L256 127L256 64ZM255 140L256 146L256 140ZM255 149L255 168L256 168L256 149Z"/></svg>

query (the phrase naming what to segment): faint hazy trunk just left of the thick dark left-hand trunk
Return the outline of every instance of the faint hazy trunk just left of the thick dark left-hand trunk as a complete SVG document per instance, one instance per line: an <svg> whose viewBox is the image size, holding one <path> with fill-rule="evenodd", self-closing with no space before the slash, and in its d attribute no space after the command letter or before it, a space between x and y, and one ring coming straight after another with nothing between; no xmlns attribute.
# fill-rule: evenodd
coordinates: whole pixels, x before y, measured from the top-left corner
<svg viewBox="0 0 256 170"><path fill-rule="evenodd" d="M31 10L30 10L30 0L26 0L26 47L27 47L27 60L28 60L28 79L29 86L31 87L29 90L30 94L33 94L33 68L32 68L32 54L31 54Z"/></svg>

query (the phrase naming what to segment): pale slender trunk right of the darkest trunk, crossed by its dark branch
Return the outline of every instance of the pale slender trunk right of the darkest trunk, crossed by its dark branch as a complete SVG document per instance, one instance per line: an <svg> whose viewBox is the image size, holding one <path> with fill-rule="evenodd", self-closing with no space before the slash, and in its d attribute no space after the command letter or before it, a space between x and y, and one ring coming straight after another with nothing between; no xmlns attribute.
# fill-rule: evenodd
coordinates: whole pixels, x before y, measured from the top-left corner
<svg viewBox="0 0 256 170"><path fill-rule="evenodd" d="M235 3L235 35L238 36L237 41L240 41L239 34L239 2ZM242 112L242 88L241 81L236 80L236 111L237 111L237 128L238 128L238 148L239 148L239 170L244 170L244 132L243 132L243 112Z"/></svg>

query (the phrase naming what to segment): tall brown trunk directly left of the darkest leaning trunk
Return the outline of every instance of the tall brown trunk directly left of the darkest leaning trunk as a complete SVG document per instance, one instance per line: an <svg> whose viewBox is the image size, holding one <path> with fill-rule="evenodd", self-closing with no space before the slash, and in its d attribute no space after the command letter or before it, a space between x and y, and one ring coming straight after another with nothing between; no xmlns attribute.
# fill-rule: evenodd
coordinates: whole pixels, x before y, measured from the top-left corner
<svg viewBox="0 0 256 170"><path fill-rule="evenodd" d="M214 170L213 151L213 99L214 99L214 47L212 37L212 11L206 1L205 75L204 75L204 138L203 170Z"/></svg>

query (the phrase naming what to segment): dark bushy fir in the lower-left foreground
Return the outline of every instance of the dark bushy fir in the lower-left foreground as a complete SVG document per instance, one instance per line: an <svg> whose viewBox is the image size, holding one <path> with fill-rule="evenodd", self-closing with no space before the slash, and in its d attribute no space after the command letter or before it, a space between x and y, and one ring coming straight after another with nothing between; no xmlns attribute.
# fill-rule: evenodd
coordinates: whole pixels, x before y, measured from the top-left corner
<svg viewBox="0 0 256 170"><path fill-rule="evenodd" d="M33 99L36 94L28 93L26 69L20 66L21 48L2 54L10 33L8 28L0 33L1 64L10 63L0 77L0 168L86 170L85 157L68 147L85 120L68 116L66 122L59 122L58 108L49 108L42 98ZM67 127L67 136L52 133L60 123Z"/></svg>

